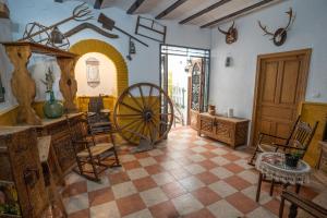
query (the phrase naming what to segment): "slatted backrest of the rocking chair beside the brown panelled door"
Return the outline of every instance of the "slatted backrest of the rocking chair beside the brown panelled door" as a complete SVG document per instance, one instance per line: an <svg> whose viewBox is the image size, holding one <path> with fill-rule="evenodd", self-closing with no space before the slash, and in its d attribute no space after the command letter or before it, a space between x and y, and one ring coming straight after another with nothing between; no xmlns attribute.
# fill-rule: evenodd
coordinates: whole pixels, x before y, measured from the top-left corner
<svg viewBox="0 0 327 218"><path fill-rule="evenodd" d="M308 123L301 121L300 117L298 118L293 131L288 140L288 145L291 147L296 147L302 150L301 158L305 155L305 152L316 132L318 122L315 122L313 126Z"/></svg>

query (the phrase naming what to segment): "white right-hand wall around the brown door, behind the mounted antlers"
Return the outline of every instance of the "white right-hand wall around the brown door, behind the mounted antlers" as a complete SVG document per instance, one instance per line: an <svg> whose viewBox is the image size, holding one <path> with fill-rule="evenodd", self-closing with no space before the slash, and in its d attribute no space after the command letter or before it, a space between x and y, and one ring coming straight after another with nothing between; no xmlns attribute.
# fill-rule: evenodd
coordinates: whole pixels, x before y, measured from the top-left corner
<svg viewBox="0 0 327 218"><path fill-rule="evenodd" d="M257 20L276 29L288 22L284 14L292 7L296 13L295 22L288 32L288 39L276 47L269 37L263 36ZM234 108L234 114L252 118L256 58L262 53L312 48L312 60L306 89L306 100L327 102L327 1L290 0L271 8L239 17L235 24L239 40L232 45L225 43L225 35L217 28L211 31L211 74L210 102L218 112ZM227 29L230 23L222 25ZM225 66L227 56L233 58L230 68ZM215 95L214 95L215 94Z"/></svg>

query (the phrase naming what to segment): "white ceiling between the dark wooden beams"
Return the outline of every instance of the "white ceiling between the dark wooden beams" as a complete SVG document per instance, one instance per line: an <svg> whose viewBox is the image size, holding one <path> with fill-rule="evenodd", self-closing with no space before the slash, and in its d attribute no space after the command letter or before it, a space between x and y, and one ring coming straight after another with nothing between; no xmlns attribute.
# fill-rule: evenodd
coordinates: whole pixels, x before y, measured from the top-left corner
<svg viewBox="0 0 327 218"><path fill-rule="evenodd" d="M95 0L83 0L85 2L92 3ZM145 0L133 14L150 14L152 16L157 16L159 13L165 11L177 0ZM210 5L217 3L221 0L186 0L184 3L175 8L169 14L162 17L162 20L173 20L180 22ZM258 3L263 0L230 0L227 3L221 4L220 7L197 16L185 24L192 24L202 26L211 21L225 17L231 13L240 11L244 8L251 7L255 3ZM267 5L271 5L281 0L274 0ZM116 7L124 11L128 11L130 7L135 2L135 0L104 0L101 8ZM265 5L265 7L267 7ZM232 17L233 19L233 17ZM211 26L213 27L213 26Z"/></svg>

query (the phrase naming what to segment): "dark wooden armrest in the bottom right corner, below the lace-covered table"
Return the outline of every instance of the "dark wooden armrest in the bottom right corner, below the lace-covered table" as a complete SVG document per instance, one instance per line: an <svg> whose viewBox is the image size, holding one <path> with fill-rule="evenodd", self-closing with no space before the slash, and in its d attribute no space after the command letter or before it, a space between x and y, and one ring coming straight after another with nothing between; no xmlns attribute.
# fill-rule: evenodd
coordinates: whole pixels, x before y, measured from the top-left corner
<svg viewBox="0 0 327 218"><path fill-rule="evenodd" d="M313 215L314 217L326 217L327 209L313 203L312 201L305 199L304 197L295 194L294 192L283 190L281 197L291 202L292 204L296 205L301 209L307 211L308 214Z"/></svg>

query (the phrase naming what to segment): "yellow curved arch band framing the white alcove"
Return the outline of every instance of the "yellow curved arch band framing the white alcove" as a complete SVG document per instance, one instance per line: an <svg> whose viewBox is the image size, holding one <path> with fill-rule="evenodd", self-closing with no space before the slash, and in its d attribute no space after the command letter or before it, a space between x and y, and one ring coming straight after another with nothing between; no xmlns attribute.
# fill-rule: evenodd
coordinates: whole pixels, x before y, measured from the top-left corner
<svg viewBox="0 0 327 218"><path fill-rule="evenodd" d="M118 97L129 86L126 62L113 46L97 39L85 39L74 44L70 48L70 51L80 56L89 52L99 52L112 60L117 69L117 96L114 97Z"/></svg>

